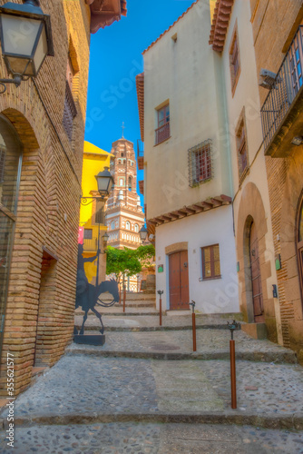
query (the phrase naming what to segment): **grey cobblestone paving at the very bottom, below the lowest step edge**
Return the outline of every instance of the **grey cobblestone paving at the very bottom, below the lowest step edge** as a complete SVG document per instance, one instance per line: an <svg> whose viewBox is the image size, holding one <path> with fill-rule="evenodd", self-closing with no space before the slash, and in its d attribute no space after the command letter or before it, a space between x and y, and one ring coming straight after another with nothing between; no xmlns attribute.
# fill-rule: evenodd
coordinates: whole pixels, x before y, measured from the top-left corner
<svg viewBox="0 0 303 454"><path fill-rule="evenodd" d="M302 453L302 431L264 429L266 424L276 426L277 418L260 420L258 428L226 424L225 420L221 420L220 424L167 422L170 417L165 418L164 414L161 419L161 422L111 420L65 426L27 424L27 427L18 427L14 452L24 454L43 447L44 454L66 451L77 454ZM164 419L165 423L162 422ZM189 419L188 415L186 419ZM279 425L282 425L281 422L284 421L279 421ZM5 439L5 436L5 432L0 431L0 449L2 454L11 454L12 449L8 449L5 443L1 446L1 439Z"/></svg>

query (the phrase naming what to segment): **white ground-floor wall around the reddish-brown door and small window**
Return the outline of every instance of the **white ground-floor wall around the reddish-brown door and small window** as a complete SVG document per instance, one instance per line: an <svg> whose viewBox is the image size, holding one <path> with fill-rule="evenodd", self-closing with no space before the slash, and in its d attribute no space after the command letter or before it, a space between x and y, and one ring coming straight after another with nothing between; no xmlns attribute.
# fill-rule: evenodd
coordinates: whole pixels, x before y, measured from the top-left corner
<svg viewBox="0 0 303 454"><path fill-rule="evenodd" d="M165 254L165 247L176 242L188 242L190 301L196 301L197 311L238 312L238 276L231 206L195 214L157 228L156 289L164 291L163 310L170 309L169 256ZM220 246L221 278L200 281L202 277L200 248L212 244ZM162 273L157 272L160 264L164 265ZM159 308L159 295L157 295L157 307Z"/></svg>

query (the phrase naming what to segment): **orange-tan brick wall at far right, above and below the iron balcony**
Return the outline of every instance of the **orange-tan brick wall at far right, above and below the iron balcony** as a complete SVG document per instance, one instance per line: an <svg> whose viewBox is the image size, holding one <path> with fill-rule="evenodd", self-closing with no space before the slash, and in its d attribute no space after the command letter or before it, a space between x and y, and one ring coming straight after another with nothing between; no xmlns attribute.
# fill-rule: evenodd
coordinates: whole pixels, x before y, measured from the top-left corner
<svg viewBox="0 0 303 454"><path fill-rule="evenodd" d="M250 0L258 74L261 68L278 72L285 52L303 18L301 0ZM261 105L268 90L259 87ZM281 254L277 271L282 334L285 346L294 347L289 326L302 319L296 251L296 210L302 189L303 159L266 158L275 254ZM299 350L299 347L294 347ZM302 345L303 348L303 345Z"/></svg>

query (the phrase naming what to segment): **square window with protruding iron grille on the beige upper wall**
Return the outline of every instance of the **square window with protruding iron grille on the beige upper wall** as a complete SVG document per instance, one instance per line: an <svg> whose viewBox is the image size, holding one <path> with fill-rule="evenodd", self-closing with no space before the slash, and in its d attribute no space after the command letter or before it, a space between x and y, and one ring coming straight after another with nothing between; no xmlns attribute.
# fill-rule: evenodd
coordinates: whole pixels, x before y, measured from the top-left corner
<svg viewBox="0 0 303 454"><path fill-rule="evenodd" d="M208 139L189 150L190 186L208 182L212 176L212 141Z"/></svg>

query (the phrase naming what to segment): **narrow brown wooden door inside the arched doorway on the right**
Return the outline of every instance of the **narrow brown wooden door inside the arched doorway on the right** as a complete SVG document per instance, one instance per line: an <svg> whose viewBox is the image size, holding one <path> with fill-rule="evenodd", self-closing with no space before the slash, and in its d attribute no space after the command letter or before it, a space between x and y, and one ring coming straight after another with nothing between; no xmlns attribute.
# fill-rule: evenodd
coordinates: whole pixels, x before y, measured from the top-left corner
<svg viewBox="0 0 303 454"><path fill-rule="evenodd" d="M264 322L262 281L259 267L259 242L255 222L252 222L250 227L249 254L254 318L257 323Z"/></svg>

